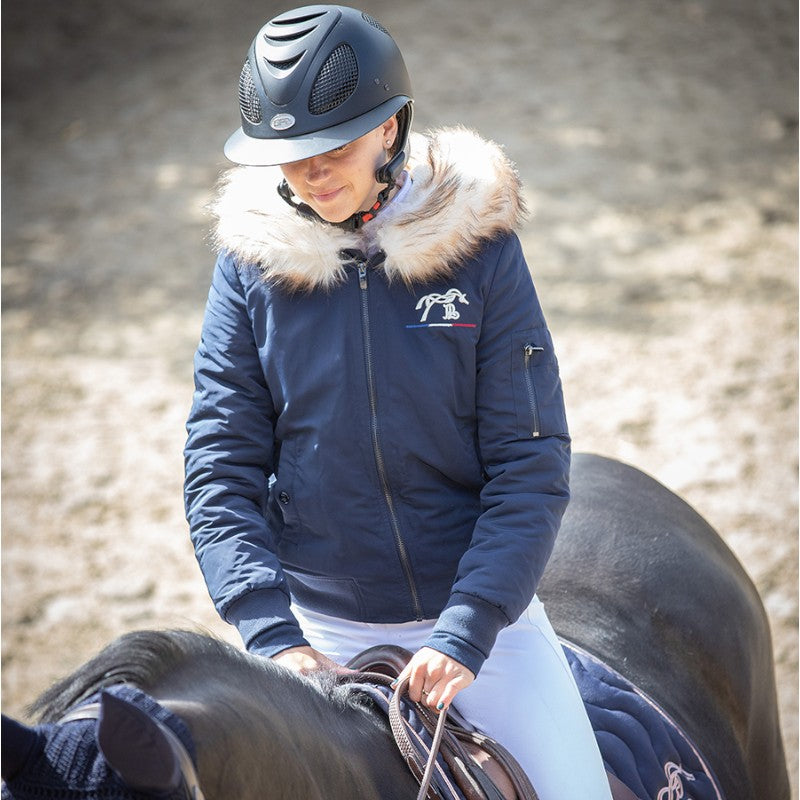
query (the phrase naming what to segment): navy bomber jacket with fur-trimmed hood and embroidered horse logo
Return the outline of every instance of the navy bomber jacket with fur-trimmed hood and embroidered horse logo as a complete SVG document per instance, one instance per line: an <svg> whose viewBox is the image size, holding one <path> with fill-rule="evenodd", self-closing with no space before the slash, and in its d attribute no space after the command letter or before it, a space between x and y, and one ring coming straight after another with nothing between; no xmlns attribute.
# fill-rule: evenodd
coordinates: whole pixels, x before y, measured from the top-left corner
<svg viewBox="0 0 800 800"><path fill-rule="evenodd" d="M412 184L360 232L301 217L264 168L229 173L186 510L249 650L306 644L294 599L436 619L426 644L477 673L552 551L569 436L513 167L463 129L413 146Z"/></svg>

